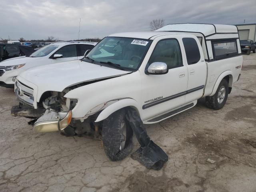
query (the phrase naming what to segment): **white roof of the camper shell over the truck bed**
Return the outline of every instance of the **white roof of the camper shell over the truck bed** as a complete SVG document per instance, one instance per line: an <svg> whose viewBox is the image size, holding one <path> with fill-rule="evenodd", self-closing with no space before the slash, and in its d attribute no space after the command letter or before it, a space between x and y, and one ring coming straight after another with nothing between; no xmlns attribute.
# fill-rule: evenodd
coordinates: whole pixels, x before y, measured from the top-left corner
<svg viewBox="0 0 256 192"><path fill-rule="evenodd" d="M211 36L220 33L238 33L237 27L234 25L198 23L168 24L156 31L199 32L204 34L204 36Z"/></svg>

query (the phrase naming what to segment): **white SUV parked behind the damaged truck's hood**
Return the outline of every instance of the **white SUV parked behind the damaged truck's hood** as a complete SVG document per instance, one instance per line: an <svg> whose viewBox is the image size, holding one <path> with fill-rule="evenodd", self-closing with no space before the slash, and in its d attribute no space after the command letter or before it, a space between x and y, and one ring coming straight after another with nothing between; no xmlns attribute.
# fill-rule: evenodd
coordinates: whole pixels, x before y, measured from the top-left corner
<svg viewBox="0 0 256 192"><path fill-rule="evenodd" d="M13 88L16 76L35 66L82 59L97 42L54 42L29 56L0 62L0 86Z"/></svg>

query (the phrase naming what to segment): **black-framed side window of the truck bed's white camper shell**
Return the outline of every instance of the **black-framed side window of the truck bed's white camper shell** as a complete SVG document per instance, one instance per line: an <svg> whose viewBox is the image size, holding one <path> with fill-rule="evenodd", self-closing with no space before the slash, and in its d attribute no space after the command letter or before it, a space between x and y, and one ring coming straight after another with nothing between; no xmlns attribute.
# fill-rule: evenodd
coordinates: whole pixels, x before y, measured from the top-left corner
<svg viewBox="0 0 256 192"><path fill-rule="evenodd" d="M238 55L236 40L212 41L214 59L224 59Z"/></svg>

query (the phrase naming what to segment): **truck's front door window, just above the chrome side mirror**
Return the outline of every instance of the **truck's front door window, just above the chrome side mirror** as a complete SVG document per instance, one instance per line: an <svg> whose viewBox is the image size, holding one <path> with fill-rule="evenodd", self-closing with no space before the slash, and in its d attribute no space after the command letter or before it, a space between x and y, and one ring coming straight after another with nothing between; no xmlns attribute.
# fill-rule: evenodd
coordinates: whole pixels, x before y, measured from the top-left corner
<svg viewBox="0 0 256 192"><path fill-rule="evenodd" d="M164 62L168 69L182 66L182 57L180 46L176 39L161 40L148 61L149 64L154 62Z"/></svg>

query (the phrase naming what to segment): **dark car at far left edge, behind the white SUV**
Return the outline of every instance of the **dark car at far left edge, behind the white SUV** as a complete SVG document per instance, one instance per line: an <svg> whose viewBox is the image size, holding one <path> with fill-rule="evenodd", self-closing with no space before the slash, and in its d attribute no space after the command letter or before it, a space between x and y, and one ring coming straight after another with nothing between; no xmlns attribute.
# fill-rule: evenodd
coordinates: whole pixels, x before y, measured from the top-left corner
<svg viewBox="0 0 256 192"><path fill-rule="evenodd" d="M0 43L0 62L13 57L30 55L35 52L31 46Z"/></svg>

